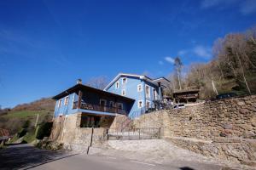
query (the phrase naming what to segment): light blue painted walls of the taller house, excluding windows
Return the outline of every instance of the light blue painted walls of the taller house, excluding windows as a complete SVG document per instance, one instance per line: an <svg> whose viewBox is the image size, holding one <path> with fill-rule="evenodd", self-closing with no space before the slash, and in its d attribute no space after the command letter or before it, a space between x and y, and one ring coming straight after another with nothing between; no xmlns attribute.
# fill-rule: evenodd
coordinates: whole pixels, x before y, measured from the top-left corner
<svg viewBox="0 0 256 170"><path fill-rule="evenodd" d="M123 78L127 79L127 82L125 84L123 84L122 80ZM119 88L116 88L116 82L119 82ZM141 114L143 114L146 109L146 101L150 102L150 107L154 107L154 89L157 92L157 96L159 96L159 88L158 86L154 85L151 82L145 81L140 79L139 77L126 77L126 76L121 76L119 77L119 79L113 82L113 84L106 89L106 91L111 92L113 94L119 94L122 95L122 90L125 89L126 94L125 96L131 99L135 99L134 105L132 105L131 111L129 113L129 116L131 116L131 118L140 116ZM139 84L142 84L142 88L143 91L142 92L138 92L137 91L137 86ZM150 96L148 98L146 98L146 91L145 91L145 85L148 85L149 90L150 90ZM143 108L139 108L138 107L138 101L142 100L143 101Z"/></svg>

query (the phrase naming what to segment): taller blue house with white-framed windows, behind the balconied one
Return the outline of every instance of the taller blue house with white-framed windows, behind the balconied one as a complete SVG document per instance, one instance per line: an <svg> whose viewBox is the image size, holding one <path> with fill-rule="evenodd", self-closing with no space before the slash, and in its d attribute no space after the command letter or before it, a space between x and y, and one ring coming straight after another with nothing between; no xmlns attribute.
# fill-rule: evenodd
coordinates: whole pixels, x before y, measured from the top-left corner
<svg viewBox="0 0 256 170"><path fill-rule="evenodd" d="M129 116L135 118L148 110L160 109L157 104L163 100L163 88L166 88L165 84L168 82L165 77L151 79L141 75L119 73L104 90L135 99L129 112Z"/></svg>

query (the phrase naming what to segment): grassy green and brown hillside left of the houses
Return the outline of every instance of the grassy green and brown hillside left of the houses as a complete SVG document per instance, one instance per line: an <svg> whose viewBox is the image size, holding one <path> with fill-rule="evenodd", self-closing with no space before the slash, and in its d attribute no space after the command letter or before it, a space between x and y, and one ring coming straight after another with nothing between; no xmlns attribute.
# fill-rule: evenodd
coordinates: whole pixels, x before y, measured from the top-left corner
<svg viewBox="0 0 256 170"><path fill-rule="evenodd" d="M9 130L9 133L15 134L26 122L29 122L30 127L34 126L38 115L38 123L50 121L54 108L55 100L49 98L17 105L11 110L2 111L0 115L0 128L6 128Z"/></svg>

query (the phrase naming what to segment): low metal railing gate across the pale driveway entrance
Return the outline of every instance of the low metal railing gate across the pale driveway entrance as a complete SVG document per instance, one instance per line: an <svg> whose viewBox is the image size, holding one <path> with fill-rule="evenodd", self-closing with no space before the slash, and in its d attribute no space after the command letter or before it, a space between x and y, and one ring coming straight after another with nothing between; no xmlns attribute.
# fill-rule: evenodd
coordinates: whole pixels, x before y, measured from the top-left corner
<svg viewBox="0 0 256 170"><path fill-rule="evenodd" d="M139 140L139 139L160 139L161 128L133 128L129 131L108 129L108 139L114 140Z"/></svg>

